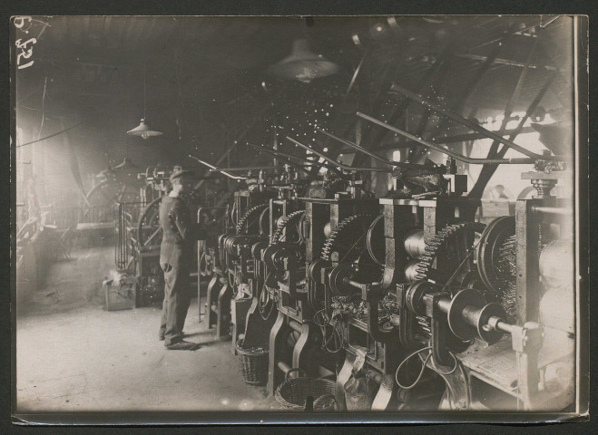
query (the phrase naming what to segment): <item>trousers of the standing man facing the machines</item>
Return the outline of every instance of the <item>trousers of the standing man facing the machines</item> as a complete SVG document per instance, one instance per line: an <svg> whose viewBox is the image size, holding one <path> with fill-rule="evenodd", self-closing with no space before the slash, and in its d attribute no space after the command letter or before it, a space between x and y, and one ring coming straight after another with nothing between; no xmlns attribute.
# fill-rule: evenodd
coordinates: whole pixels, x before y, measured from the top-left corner
<svg viewBox="0 0 598 435"><path fill-rule="evenodd" d="M182 263L182 262L181 262ZM162 265L164 271L164 302L160 333L164 334L164 344L182 340L182 327L191 302L191 282L189 268L184 264L176 267Z"/></svg>

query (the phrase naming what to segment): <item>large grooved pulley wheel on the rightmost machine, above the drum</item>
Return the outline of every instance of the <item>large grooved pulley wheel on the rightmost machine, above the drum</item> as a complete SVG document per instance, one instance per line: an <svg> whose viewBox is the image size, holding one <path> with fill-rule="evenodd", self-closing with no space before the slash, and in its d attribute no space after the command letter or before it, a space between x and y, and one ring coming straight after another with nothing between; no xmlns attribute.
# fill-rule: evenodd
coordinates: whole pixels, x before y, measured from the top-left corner
<svg viewBox="0 0 598 435"><path fill-rule="evenodd" d="M498 271L496 266L499 262L499 249L505 243L506 238L515 235L515 217L504 216L495 218L482 233L476 251L477 270L486 287L495 294L500 294L497 282Z"/></svg>

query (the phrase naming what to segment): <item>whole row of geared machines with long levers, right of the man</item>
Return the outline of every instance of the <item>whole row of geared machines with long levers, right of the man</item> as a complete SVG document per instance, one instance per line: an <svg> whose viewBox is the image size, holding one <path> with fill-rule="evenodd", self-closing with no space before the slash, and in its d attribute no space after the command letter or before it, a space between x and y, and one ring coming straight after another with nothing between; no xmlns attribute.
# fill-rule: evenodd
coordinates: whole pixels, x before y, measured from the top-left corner
<svg viewBox="0 0 598 435"><path fill-rule="evenodd" d="M343 411L572 406L573 203L552 195L571 176L562 156L470 161L442 149L445 164L415 164L341 140L381 163L353 168L287 140L312 159L258 146L276 166L200 160L242 181L221 207L222 234L198 247L203 321L233 353L268 349L270 392L300 369L336 381ZM522 183L535 195L484 225L456 160L532 163ZM375 198L363 175L372 171L397 189Z"/></svg>

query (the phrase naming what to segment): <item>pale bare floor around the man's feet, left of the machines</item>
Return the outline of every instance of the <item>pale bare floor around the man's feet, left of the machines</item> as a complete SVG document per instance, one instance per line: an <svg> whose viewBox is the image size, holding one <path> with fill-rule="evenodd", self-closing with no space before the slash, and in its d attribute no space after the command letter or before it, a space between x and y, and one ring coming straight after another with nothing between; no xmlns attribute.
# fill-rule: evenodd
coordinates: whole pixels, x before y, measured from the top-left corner
<svg viewBox="0 0 598 435"><path fill-rule="evenodd" d="M72 256L17 300L17 412L279 410L265 387L241 381L230 342L198 323L196 299L185 333L201 349L167 351L159 307L103 309L113 248Z"/></svg>

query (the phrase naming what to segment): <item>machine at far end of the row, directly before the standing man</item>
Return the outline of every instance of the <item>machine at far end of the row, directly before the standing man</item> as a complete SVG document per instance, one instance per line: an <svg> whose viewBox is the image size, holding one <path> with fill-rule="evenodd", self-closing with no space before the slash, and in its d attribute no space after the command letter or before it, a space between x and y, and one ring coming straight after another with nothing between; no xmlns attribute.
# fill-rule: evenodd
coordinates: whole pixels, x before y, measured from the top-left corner
<svg viewBox="0 0 598 435"><path fill-rule="evenodd" d="M288 210L287 206L297 198L297 191L302 189L305 180L299 179L289 165L281 170L278 167L219 169L194 159L211 171L231 179L242 179L246 184L246 189L234 192L232 208L227 212L232 225L218 237L217 247L212 247L209 252L209 256L217 260L205 304L206 327L210 329L215 325L220 340L231 336L234 352L241 335L246 343L256 342L260 341L260 329L270 330L268 315L258 311L261 306L258 301L263 297L263 278L260 278L259 266L254 263L253 253L256 251L253 247L269 242L273 222L280 218L280 213ZM249 171L249 174L230 174L234 171ZM258 173L257 177L251 176L254 172ZM258 332L251 333L254 330Z"/></svg>

